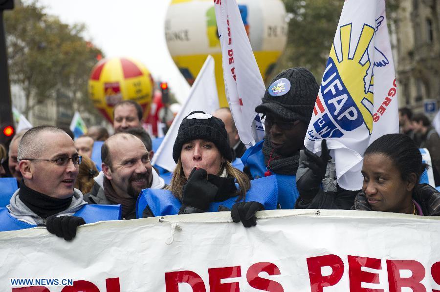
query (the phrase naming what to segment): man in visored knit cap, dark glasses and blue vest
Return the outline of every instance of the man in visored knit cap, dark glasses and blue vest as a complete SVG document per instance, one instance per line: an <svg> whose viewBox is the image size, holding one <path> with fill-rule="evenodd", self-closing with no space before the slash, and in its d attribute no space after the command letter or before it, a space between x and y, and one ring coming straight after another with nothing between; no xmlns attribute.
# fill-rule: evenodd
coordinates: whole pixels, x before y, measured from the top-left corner
<svg viewBox="0 0 440 292"><path fill-rule="evenodd" d="M293 209L299 196L295 175L318 90L308 69L290 68L274 78L255 108L264 115L265 137L243 154L243 171L252 179L275 175L281 209Z"/></svg>

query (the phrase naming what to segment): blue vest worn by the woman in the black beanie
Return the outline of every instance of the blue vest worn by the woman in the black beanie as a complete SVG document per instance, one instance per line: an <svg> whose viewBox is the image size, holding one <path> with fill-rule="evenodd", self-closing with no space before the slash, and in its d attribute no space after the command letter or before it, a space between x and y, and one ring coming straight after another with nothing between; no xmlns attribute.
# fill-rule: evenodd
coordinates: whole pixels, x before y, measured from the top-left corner
<svg viewBox="0 0 440 292"><path fill-rule="evenodd" d="M273 176L251 181L251 188L247 191L244 202L257 201L264 205L265 210L277 208L278 184ZM214 202L209 205L207 212L218 211L220 205L232 208L238 197L232 197L223 202ZM142 218L142 212L147 206L154 216L176 215L182 203L165 189L146 188L142 190L136 202L136 218Z"/></svg>

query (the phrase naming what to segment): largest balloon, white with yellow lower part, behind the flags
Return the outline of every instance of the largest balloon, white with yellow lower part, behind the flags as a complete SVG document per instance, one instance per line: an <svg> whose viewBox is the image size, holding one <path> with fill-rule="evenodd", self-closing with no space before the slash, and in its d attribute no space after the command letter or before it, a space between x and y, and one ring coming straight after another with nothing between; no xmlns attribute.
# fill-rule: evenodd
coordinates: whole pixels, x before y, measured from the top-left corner
<svg viewBox="0 0 440 292"><path fill-rule="evenodd" d="M286 8L282 0L237 0L237 3L266 81L286 46ZM228 106L213 1L172 0L165 20L165 36L174 62L191 85L206 57L213 56L220 106Z"/></svg>

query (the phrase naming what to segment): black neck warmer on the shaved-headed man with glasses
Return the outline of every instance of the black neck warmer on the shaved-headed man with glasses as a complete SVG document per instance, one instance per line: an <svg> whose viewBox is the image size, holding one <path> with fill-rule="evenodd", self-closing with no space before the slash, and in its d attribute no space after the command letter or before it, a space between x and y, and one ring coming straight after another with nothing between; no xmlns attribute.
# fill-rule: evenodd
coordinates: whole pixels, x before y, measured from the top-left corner
<svg viewBox="0 0 440 292"><path fill-rule="evenodd" d="M72 197L66 199L49 197L32 188L26 187L23 180L20 181L18 195L27 208L44 219L66 210L72 203Z"/></svg>

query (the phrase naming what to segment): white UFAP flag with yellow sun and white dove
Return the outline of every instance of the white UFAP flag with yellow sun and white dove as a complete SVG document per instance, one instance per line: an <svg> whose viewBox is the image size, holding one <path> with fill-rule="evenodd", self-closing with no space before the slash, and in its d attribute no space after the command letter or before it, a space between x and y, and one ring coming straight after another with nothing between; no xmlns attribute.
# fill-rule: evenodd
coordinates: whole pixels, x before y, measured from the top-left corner
<svg viewBox="0 0 440 292"><path fill-rule="evenodd" d="M398 133L397 86L384 0L346 0L304 140L321 151L327 139L338 184L362 188L363 153Z"/></svg>

